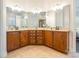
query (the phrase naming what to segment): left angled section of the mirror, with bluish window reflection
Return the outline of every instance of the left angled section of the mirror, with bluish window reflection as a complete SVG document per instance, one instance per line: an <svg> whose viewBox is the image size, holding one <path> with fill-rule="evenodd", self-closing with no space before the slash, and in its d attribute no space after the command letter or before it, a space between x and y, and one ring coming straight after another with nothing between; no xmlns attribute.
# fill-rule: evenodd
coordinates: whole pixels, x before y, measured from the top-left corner
<svg viewBox="0 0 79 59"><path fill-rule="evenodd" d="M27 27L28 16L24 11L12 10L7 7L7 27L8 29L18 29Z"/></svg>

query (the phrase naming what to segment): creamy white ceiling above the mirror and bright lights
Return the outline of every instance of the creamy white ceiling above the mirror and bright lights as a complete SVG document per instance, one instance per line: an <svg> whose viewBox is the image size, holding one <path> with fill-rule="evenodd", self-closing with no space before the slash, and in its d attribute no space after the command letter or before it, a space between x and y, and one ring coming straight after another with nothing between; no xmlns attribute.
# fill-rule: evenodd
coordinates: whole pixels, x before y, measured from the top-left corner
<svg viewBox="0 0 79 59"><path fill-rule="evenodd" d="M18 6L25 11L41 9L43 11L51 10L57 2L69 4L71 0L5 0L6 5Z"/></svg>

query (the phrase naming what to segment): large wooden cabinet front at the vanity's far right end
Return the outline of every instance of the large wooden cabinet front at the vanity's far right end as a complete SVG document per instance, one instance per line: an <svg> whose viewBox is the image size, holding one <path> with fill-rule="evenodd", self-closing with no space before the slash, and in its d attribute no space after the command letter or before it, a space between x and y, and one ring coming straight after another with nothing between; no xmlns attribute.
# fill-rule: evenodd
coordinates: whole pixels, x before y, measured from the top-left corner
<svg viewBox="0 0 79 59"><path fill-rule="evenodd" d="M67 32L54 32L54 48L67 53L67 40L68 33Z"/></svg>

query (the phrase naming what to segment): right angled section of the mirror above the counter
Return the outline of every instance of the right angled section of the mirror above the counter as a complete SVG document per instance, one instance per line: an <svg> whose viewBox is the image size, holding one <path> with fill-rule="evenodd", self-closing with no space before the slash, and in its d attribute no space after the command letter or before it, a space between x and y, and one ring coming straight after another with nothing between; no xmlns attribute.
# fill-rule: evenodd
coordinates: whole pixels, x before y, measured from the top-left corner
<svg viewBox="0 0 79 59"><path fill-rule="evenodd" d="M48 27L67 28L70 24L70 6L66 5L62 9L51 10L46 13L46 24Z"/></svg>

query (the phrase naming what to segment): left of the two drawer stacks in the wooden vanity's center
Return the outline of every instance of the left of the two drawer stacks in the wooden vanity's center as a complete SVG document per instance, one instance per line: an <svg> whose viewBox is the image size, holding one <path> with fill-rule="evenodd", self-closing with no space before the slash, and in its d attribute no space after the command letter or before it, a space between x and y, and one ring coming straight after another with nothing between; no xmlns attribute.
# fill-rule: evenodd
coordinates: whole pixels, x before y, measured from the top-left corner
<svg viewBox="0 0 79 59"><path fill-rule="evenodd" d="M36 30L28 30L29 44L36 44Z"/></svg>

